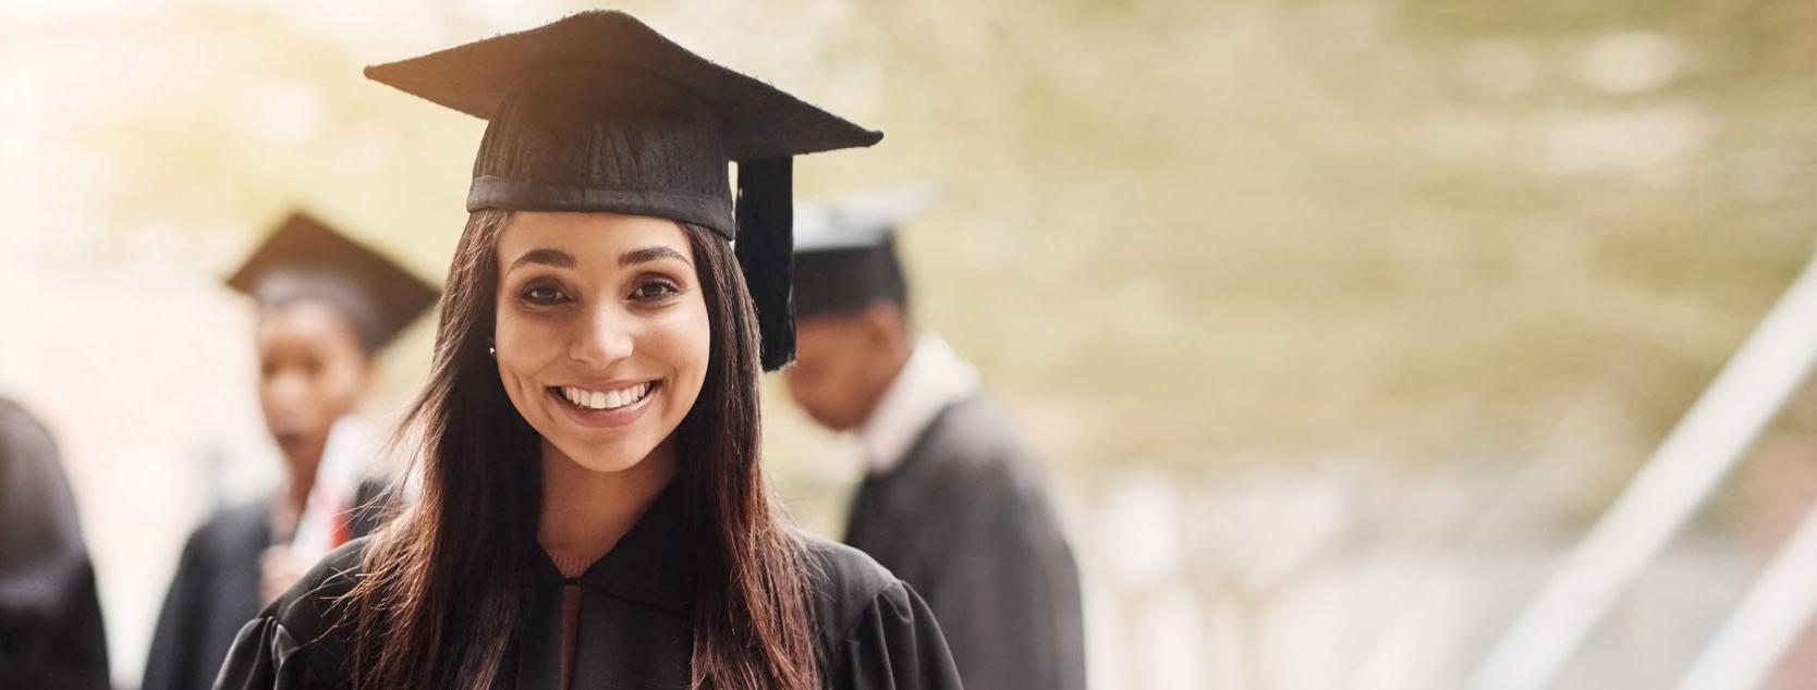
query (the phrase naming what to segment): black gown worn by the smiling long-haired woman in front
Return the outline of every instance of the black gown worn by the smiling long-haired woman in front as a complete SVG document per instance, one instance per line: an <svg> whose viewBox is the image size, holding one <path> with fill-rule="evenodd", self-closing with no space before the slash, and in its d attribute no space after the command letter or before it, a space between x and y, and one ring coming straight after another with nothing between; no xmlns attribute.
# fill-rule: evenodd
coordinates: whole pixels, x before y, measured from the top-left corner
<svg viewBox="0 0 1817 690"><path fill-rule="evenodd" d="M839 690L959 688L947 643L919 596L865 554L798 534L814 586L816 643L825 685ZM216 688L349 688L347 606L333 606L360 572L365 539L323 559L247 623ZM665 490L623 539L587 568L572 688L687 688L690 675L690 557L683 505ZM556 688L561 675L563 577L547 556L532 563L527 623L505 652L494 688Z"/></svg>

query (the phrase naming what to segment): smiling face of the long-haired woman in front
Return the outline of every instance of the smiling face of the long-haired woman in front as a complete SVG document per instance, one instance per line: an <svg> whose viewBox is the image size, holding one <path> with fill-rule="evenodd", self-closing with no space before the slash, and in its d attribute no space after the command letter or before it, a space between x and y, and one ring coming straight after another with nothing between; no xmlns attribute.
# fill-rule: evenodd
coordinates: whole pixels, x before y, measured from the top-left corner
<svg viewBox="0 0 1817 690"><path fill-rule="evenodd" d="M712 330L670 220L518 212L498 240L498 376L567 459L638 465L694 407Z"/></svg>

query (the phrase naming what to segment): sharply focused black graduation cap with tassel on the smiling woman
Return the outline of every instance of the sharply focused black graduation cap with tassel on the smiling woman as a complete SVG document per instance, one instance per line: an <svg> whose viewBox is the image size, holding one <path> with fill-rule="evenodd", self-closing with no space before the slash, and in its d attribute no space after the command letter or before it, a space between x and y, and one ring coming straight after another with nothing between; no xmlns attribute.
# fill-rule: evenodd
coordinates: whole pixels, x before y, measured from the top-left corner
<svg viewBox="0 0 1817 690"><path fill-rule="evenodd" d="M587 11L365 76L485 118L467 211L609 211L705 225L743 267L763 369L794 358L792 156L881 133ZM732 196L729 163L738 163Z"/></svg>

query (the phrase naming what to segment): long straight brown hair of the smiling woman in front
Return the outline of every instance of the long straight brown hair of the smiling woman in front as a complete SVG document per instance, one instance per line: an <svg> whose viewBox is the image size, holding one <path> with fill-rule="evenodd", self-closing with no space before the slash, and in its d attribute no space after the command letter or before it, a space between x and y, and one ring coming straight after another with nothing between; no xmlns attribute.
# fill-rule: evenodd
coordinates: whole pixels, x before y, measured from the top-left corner
<svg viewBox="0 0 1817 690"><path fill-rule="evenodd" d="M454 251L434 365L405 419L422 498L374 536L349 594L362 686L485 688L529 610L540 441L487 354L509 222L471 214ZM681 229L712 323L705 383L674 432L696 559L694 686L814 688L809 574L758 463L756 316L730 247Z"/></svg>

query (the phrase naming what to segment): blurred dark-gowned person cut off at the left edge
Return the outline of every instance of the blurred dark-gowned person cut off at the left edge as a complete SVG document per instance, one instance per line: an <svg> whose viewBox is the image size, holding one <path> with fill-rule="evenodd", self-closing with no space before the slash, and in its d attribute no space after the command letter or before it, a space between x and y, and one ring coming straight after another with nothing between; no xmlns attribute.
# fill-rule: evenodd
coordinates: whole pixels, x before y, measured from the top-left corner
<svg viewBox="0 0 1817 690"><path fill-rule="evenodd" d="M0 398L0 688L107 686L94 567L56 443Z"/></svg>

